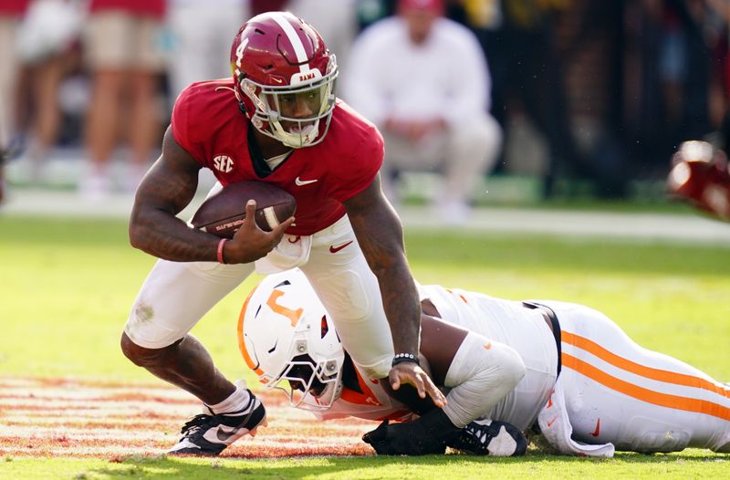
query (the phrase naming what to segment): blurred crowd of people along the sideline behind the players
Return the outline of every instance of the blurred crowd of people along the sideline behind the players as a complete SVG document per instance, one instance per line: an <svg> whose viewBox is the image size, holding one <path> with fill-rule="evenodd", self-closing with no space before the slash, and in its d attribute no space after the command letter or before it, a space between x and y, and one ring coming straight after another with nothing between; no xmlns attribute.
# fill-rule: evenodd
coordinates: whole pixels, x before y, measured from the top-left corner
<svg viewBox="0 0 730 480"><path fill-rule="evenodd" d="M728 0L0 0L5 182L133 191L176 96L229 76L237 28L266 10L337 55L339 97L386 139L391 200L403 172L437 172L453 219L500 176L636 195L730 101Z"/></svg>

